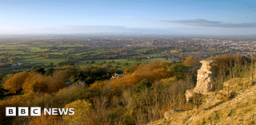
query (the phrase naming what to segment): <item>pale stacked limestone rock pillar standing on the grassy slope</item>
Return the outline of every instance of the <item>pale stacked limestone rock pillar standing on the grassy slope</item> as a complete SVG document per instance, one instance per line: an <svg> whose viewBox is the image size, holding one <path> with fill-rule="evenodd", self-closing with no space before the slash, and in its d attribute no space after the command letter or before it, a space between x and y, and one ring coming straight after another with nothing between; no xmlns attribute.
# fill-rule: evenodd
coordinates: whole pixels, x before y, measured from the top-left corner
<svg viewBox="0 0 256 125"><path fill-rule="evenodd" d="M197 86L194 89L186 90L186 102L193 99L194 93L207 94L214 90L213 74L211 66L214 61L200 61L202 66L198 69Z"/></svg>

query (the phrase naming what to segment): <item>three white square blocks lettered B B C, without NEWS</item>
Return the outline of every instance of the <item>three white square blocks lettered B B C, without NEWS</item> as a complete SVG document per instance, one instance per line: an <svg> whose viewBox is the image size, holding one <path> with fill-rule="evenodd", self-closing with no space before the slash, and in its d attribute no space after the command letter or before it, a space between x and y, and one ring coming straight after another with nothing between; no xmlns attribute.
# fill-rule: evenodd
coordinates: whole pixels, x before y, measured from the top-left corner
<svg viewBox="0 0 256 125"><path fill-rule="evenodd" d="M6 107L6 116L16 116L16 107ZM29 107L18 107L18 116L28 116ZM30 116L40 116L41 107L30 107Z"/></svg>

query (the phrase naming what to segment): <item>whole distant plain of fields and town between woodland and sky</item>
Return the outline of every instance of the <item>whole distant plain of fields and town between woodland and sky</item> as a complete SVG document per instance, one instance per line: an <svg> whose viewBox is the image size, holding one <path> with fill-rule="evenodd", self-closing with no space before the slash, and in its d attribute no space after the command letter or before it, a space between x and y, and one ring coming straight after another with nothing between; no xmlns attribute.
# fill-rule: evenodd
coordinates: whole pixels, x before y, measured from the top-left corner
<svg viewBox="0 0 256 125"><path fill-rule="evenodd" d="M34 66L63 64L116 64L145 61L182 61L189 56L217 57L231 53L254 57L256 38L216 36L90 36L46 35L0 38L1 72L28 70Z"/></svg>

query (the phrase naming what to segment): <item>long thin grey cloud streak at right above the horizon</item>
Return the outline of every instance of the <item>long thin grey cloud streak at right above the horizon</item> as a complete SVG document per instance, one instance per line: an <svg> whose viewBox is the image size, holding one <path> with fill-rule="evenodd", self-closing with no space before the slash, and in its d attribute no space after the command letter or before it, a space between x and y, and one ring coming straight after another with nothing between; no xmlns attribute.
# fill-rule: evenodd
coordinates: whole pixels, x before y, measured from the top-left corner
<svg viewBox="0 0 256 125"><path fill-rule="evenodd" d="M223 23L222 21L207 21L205 19L191 19L191 20L173 20L167 21L171 23L178 23L182 25L197 25L205 27L223 27L223 28L253 28L256 27L256 22L244 23Z"/></svg>

